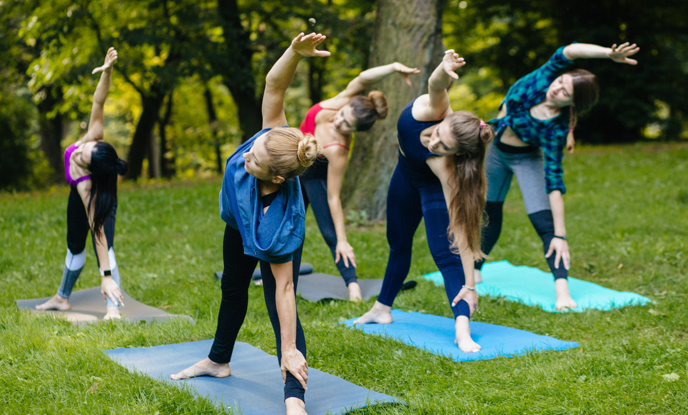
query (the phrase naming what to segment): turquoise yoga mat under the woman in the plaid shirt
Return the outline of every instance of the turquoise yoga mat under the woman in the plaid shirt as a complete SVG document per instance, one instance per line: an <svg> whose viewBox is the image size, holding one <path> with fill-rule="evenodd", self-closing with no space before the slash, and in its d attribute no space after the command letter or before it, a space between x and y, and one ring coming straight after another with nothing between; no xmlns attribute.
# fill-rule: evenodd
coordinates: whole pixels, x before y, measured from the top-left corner
<svg viewBox="0 0 688 415"><path fill-rule="evenodd" d="M437 271L423 275L438 286L444 284L442 273ZM488 262L482 267L482 282L475 286L479 295L506 297L526 306L539 306L545 311L555 309L555 282L552 273L546 273L530 266L515 266L508 261ZM642 306L652 300L634 292L614 291L590 281L568 277L571 297L578 304L571 311L585 311L588 308L612 310L625 306Z"/></svg>

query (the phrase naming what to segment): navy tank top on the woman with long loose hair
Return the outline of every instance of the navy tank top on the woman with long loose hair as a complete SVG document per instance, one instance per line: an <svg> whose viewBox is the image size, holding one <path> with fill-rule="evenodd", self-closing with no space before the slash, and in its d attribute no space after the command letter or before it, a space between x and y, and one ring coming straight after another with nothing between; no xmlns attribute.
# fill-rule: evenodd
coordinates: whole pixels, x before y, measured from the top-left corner
<svg viewBox="0 0 688 415"><path fill-rule="evenodd" d="M418 99L418 98L416 98ZM399 153L399 164L407 179L417 184L427 182L437 182L439 179L428 166L427 158L437 156L430 152L427 147L420 142L420 133L427 127L438 125L442 120L437 121L418 121L413 118L411 109L416 99L407 105L396 123L396 131L399 140L399 147L403 154Z"/></svg>

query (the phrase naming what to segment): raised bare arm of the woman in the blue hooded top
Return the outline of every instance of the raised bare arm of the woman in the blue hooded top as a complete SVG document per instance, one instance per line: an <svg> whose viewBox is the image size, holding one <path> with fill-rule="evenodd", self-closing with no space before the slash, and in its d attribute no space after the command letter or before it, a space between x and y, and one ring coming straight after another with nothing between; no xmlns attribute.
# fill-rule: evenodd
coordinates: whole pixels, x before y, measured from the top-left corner
<svg viewBox="0 0 688 415"><path fill-rule="evenodd" d="M287 117L284 114L284 93L294 79L302 56L330 56L330 52L315 48L324 40L323 34L300 33L292 40L292 44L275 62L275 65L272 65L265 79L262 107L263 128L287 125Z"/></svg>

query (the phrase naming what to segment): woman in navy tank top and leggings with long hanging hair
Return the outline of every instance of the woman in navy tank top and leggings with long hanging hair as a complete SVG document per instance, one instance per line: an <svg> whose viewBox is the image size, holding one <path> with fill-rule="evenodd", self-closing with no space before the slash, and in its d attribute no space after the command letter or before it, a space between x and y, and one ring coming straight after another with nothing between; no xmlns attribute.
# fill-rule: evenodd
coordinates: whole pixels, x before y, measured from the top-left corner
<svg viewBox="0 0 688 415"><path fill-rule="evenodd" d="M469 328L477 308L473 262L484 257L483 163L494 131L475 114L454 112L449 105L447 87L464 64L453 50L445 52L429 78L428 94L411 101L399 116L399 162L387 193L387 270L375 305L354 323L391 323L391 305L409 273L413 234L423 219L455 317L455 342L464 352L477 352L480 345Z"/></svg>

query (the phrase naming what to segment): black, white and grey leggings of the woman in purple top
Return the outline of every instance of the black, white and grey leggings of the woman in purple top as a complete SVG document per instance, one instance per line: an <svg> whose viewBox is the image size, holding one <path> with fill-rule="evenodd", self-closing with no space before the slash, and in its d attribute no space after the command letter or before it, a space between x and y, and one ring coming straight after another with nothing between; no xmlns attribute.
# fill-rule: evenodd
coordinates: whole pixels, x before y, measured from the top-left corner
<svg viewBox="0 0 688 415"><path fill-rule="evenodd" d="M117 211L117 202L112 208L103 230L105 231L105 239L107 239L107 254L110 260L110 270L112 271L112 279L120 286L120 270L115 259L115 251L112 247L115 238L115 213ZM86 262L86 238L88 237L90 226L86 209L79 196L76 187L72 187L69 192L69 200L67 201L67 257L65 258L65 269L62 274L62 282L60 288L57 290L57 295L63 298L69 298L72 294L72 288L76 284L81 270ZM94 251L96 251L96 240L91 235ZM100 261L96 254L96 261L100 269ZM117 307L114 302L107 297L107 307Z"/></svg>

